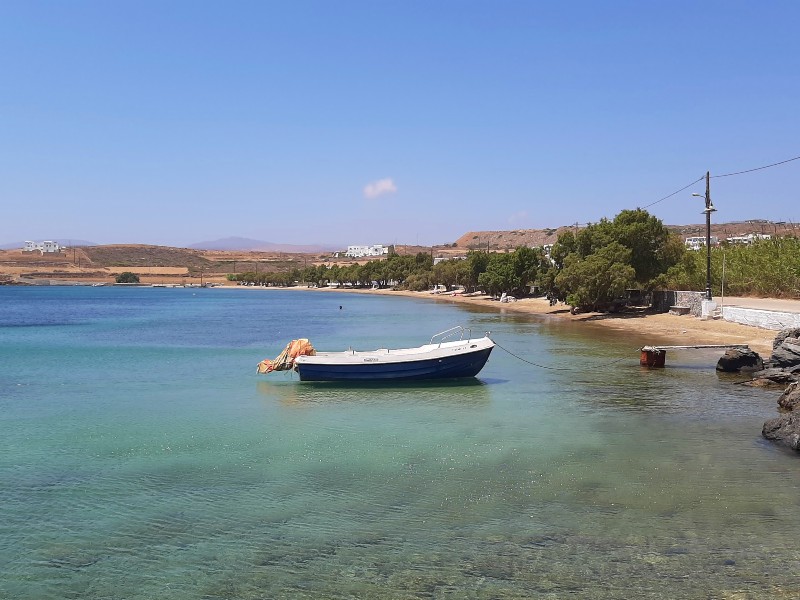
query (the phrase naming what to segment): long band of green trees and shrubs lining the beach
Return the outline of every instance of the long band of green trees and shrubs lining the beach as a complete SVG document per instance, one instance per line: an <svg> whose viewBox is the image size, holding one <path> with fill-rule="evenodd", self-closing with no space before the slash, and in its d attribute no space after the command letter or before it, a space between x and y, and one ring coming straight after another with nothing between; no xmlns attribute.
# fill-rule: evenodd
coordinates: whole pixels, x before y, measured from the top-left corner
<svg viewBox="0 0 800 600"><path fill-rule="evenodd" d="M605 310L630 290L703 290L706 250L683 239L643 209L623 210L583 229L562 233L552 248L508 252L471 250L463 260L433 264L430 254L390 254L365 264L312 265L286 272L240 273L251 285L387 287L422 291L434 285L516 297L536 293L580 310ZM800 241L775 238L750 246L712 248L714 295L800 297Z"/></svg>

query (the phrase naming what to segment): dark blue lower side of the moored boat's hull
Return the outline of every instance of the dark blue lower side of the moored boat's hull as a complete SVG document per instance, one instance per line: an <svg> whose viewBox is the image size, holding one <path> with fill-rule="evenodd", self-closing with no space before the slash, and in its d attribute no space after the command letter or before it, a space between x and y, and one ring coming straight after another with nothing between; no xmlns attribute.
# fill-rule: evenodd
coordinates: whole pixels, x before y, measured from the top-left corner
<svg viewBox="0 0 800 600"><path fill-rule="evenodd" d="M486 364L492 349L470 354L403 363L357 365L297 364L300 381L413 381L474 377Z"/></svg>

